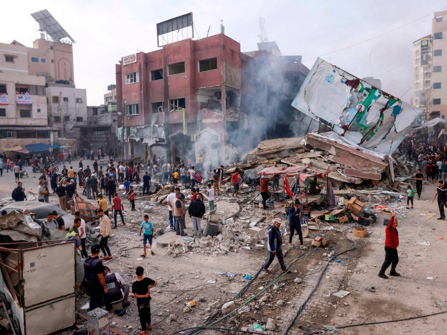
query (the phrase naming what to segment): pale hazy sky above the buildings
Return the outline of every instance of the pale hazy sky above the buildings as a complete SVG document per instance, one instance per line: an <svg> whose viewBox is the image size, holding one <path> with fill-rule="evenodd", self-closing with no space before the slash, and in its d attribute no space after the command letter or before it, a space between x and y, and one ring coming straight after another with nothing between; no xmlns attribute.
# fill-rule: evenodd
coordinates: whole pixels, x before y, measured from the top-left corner
<svg viewBox="0 0 447 335"><path fill-rule="evenodd" d="M225 34L240 42L241 51L257 50L259 17L265 17L269 41L276 41L284 55L302 55L304 65L310 68L313 57L385 33L443 6L447 6L447 0L4 1L1 42L16 39L32 46L38 35L30 14L47 9L76 41L76 87L87 89L88 105L99 105L107 85L115 84L114 64L137 49L157 50L156 23L184 13L193 12L201 38L206 37L210 25L210 35L219 34L223 20ZM430 14L380 38L322 58L329 61L330 56L331 63L358 77L371 76L372 63L372 75L382 80L383 90L400 97L413 85L412 42L431 33L432 17ZM412 88L403 100L409 101L411 94Z"/></svg>

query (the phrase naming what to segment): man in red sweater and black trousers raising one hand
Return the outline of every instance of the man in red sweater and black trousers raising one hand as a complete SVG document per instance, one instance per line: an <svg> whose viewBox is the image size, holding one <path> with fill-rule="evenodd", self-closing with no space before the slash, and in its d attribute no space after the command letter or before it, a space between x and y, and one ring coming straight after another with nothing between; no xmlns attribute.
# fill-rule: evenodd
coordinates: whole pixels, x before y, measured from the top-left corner
<svg viewBox="0 0 447 335"><path fill-rule="evenodd" d="M400 273L396 272L396 265L397 263L399 263L399 256L397 255L397 247L399 246L399 233L396 229L397 219L394 218L395 216L396 212L393 209L390 222L385 229L385 260L378 274L380 278L384 279L388 279L388 276L385 275L385 271L390 266L390 264L390 276L400 276Z"/></svg>

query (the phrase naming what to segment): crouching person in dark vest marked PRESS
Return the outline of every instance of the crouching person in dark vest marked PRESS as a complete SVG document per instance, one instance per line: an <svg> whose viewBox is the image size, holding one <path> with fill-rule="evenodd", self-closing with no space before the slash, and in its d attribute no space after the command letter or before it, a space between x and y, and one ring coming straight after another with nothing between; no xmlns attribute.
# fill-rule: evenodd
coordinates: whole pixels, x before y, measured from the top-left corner
<svg viewBox="0 0 447 335"><path fill-rule="evenodd" d="M106 310L110 310L112 305L122 302L122 308L126 308L131 303L127 300L129 299L130 286L127 284L122 276L118 272L111 272L110 268L104 267L105 270L105 286L109 290L104 295L104 302Z"/></svg>

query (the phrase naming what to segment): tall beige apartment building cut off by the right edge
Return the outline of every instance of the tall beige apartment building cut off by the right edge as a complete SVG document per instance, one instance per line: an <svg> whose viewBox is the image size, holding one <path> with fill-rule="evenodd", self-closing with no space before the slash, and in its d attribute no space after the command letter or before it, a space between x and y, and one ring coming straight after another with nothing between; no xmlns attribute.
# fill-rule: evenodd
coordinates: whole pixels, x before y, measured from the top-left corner
<svg viewBox="0 0 447 335"><path fill-rule="evenodd" d="M430 118L447 115L447 11L434 13L432 21L432 71Z"/></svg>

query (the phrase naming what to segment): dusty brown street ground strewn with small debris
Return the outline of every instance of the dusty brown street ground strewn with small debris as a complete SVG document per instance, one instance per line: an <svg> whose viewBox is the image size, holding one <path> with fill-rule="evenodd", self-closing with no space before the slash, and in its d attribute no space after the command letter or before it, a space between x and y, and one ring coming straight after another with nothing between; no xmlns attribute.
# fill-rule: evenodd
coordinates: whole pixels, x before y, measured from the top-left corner
<svg viewBox="0 0 447 335"><path fill-rule="evenodd" d="M91 163L93 162L85 162ZM105 162L104 164L105 165ZM77 162L74 163L77 166ZM30 173L23 180L26 190L35 192L37 189L37 178L39 174ZM14 183L13 175L8 173L0 178L2 187L0 197L10 195ZM404 203L394 202L390 207L399 209L399 237L398 247L400 262L397 271L400 277L390 277L388 280L381 279L377 272L384 259L385 227L382 225L383 218L389 218L389 214L379 214L377 222L373 224L366 238L353 237L352 227L343 225L342 231L346 229L346 237L358 243L357 248L346 252L338 257L345 264L331 262L323 276L316 291L312 294L303 311L299 314L291 327L289 334L307 334L312 330L322 329L322 325L343 326L354 325L363 322L383 321L407 318L415 315L424 315L444 310L447 299L443 296L446 287L445 278L447 271L445 256L447 247L444 239L445 221L438 221L435 216L428 222L420 221L421 213L428 211L437 213L437 204L431 202L434 194L434 185L424 186L421 200L415 200L415 209L405 209ZM51 202L56 202L56 197L50 197ZM200 326L209 318L217 308L209 305L219 300L220 304L232 300L236 293L242 289L247 281L245 274L254 276L264 262L267 252L256 250L239 250L223 256L211 255L180 255L177 258L166 255L166 249L154 247L155 256L148 255L143 260L137 260L142 253L141 238L138 236L139 224L143 218L143 206L147 200L137 200L136 212L130 211L127 201L123 201L126 208L126 227L120 226L118 219L118 230L114 230L114 237L110 240L110 249L114 259L105 262L112 271L118 271L127 282L135 280L134 269L137 265L147 268L149 276L158 282L158 286L152 289L152 325L155 334L173 334L181 329ZM399 208L402 207L402 209ZM272 209L262 211L255 208L255 215L269 216ZM405 215L405 217L402 216ZM168 226L167 207L157 208L149 214L156 229ZM241 214L242 216L242 214ZM251 219L253 219L251 218ZM131 220L135 220L132 224ZM113 219L112 219L113 221ZM187 219L187 226L190 220ZM338 226L338 225L335 225ZM309 244L313 234L310 231L309 238L305 244ZM167 234L174 234L168 232ZM325 232L325 235L329 235ZM444 236L446 235L446 236ZM253 323L266 325L268 317L274 319L276 329L274 334L283 334L291 318L293 318L304 301L312 293L318 277L322 274L322 268L326 265L328 258L323 253L336 253L346 250L353 242L346 239L342 232L330 236L326 249L318 249L307 255L311 249L299 250L297 247L287 245L288 236L283 244L286 252L286 263L294 267L278 282L285 283L281 288L276 285L261 293L259 297L249 302L250 310L242 314L233 314L228 319L219 322L216 327L230 327L240 329L248 327L253 331ZM294 238L294 242L295 242ZM427 241L430 246L418 243ZM313 249L312 249L313 250ZM304 257L306 256L306 257ZM280 275L280 269L276 260L272 264L271 274L261 272L256 281L250 285L239 299L236 306L251 299L266 288L271 281ZM236 273L235 278L222 275L227 271ZM296 272L295 272L296 271ZM299 277L302 282L297 284L294 279ZM426 279L433 277L433 280ZM207 281L215 281L208 284ZM374 289L371 289L374 287ZM276 289L274 289L276 288ZM346 297L338 298L332 293L343 289L350 291ZM369 290L368 290L369 289ZM201 299L202 298L202 299ZM261 298L261 301L259 301ZM197 306L190 311L184 312L185 303L191 300L197 301ZM204 300L204 301L200 301ZM282 300L283 303L278 300ZM88 297L82 297L78 301L78 307L83 306ZM114 326L126 334L139 333L139 320L135 305L135 299L130 297L132 305L127 309L127 314L118 317L111 315L110 322L116 322ZM85 311L80 311L85 314ZM169 314L175 314L177 320L168 323ZM220 313L215 320L223 316ZM338 331L342 334L443 334L444 314L418 318L409 321L384 323L370 326L359 326L344 328ZM78 320L78 325L86 322ZM71 331L61 332L68 334ZM215 331L206 331L214 334ZM217 334L217 333L216 333Z"/></svg>

